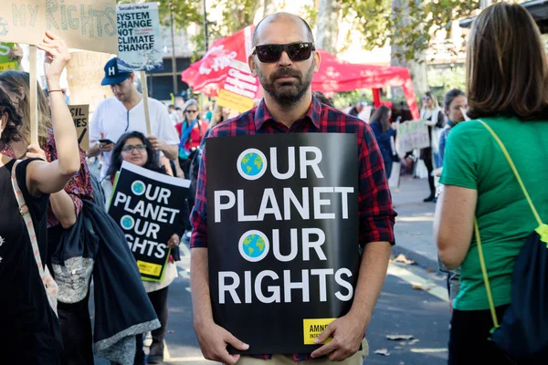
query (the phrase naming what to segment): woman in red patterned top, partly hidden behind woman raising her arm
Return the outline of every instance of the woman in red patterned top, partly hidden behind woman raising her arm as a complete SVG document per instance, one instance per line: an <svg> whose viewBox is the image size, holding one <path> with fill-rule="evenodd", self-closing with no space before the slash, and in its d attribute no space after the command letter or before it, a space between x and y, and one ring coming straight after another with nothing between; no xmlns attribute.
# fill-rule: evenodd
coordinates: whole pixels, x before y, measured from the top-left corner
<svg viewBox="0 0 548 365"><path fill-rule="evenodd" d="M17 112L22 116L23 124L18 128L21 136L18 141L6 144L1 153L11 158L25 156L30 144L30 106L21 100L30 95L30 80L27 72L4 71L0 73L0 89L17 105ZM57 150L51 129L51 115L47 97L40 88L38 96L38 144L42 158L47 162L55 161ZM63 190L52 193L47 204L47 261L54 278L59 279L65 266L52 265L52 256L58 253L61 235L77 221L83 207L83 200L93 198L91 174L86 162L86 152L79 149L80 169ZM55 259L54 259L55 261ZM90 268L91 269L91 268ZM59 281L58 281L59 282ZM58 315L61 321L61 332L67 365L91 364L93 347L91 335L90 312L88 309L89 293L77 303L64 303L65 288L59 285Z"/></svg>

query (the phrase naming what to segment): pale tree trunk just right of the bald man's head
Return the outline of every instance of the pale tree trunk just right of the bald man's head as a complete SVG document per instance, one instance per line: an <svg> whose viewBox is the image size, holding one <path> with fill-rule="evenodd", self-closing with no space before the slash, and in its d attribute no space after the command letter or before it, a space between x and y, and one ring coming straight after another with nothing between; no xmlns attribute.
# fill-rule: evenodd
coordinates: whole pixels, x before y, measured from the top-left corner
<svg viewBox="0 0 548 365"><path fill-rule="evenodd" d="M336 0L320 0L316 30L316 47L337 54L339 38L339 15L341 6Z"/></svg>

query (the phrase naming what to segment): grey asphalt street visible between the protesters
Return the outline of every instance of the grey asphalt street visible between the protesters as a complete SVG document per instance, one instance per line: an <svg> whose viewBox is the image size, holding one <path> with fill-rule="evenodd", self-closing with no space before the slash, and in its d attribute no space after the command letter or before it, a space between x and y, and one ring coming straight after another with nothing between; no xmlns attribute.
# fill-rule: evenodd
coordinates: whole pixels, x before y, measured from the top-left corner
<svg viewBox="0 0 548 365"><path fill-rule="evenodd" d="M395 225L395 254L405 253L419 265L392 263L385 287L367 328L370 356L364 364L447 363L449 310L445 280L436 272L436 249L432 238L434 203L423 203L427 181L402 178L393 191L398 212ZM170 286L170 318L164 363L203 364L192 324L189 251L177 263L180 276ZM389 340L388 335L413 336L408 340ZM389 356L375 354L385 350ZM98 361L100 365L106 361Z"/></svg>

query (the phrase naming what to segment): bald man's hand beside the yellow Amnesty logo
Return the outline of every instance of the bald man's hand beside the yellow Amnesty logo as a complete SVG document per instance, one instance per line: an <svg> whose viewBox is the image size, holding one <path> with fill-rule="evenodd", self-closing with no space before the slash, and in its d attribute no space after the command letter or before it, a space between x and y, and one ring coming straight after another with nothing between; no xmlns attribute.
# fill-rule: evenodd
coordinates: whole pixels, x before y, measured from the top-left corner
<svg viewBox="0 0 548 365"><path fill-rule="evenodd" d="M360 344L364 340L365 328L370 320L371 318L355 318L350 313L335 319L314 342L320 344L330 337L332 340L312 352L311 357L319 358L327 355L331 361L350 358L360 349Z"/></svg>

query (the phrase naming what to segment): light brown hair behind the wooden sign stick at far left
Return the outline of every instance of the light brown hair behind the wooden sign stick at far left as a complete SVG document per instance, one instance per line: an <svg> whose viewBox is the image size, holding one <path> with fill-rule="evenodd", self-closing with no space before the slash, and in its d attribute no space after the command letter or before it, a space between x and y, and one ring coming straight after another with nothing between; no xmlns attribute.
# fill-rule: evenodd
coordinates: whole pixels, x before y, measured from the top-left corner
<svg viewBox="0 0 548 365"><path fill-rule="evenodd" d="M19 88L23 89L25 100L23 102L23 109L17 109L20 113L20 117L23 120L23 124L19 127L19 134L26 141L30 143L30 79L27 72L21 71L4 71L0 73L0 83L2 83L6 89L10 92L19 93ZM49 105L47 103L46 94L40 88L37 83L37 96L38 96L38 141L40 146L44 146L47 140L48 130L51 130L51 114L49 111Z"/></svg>

